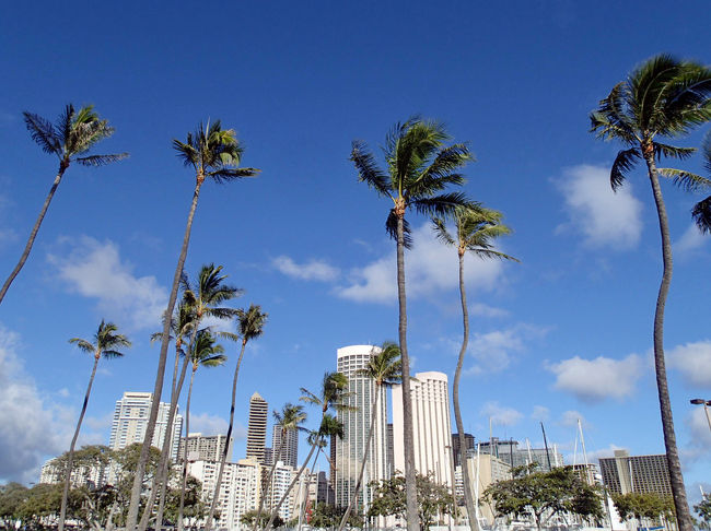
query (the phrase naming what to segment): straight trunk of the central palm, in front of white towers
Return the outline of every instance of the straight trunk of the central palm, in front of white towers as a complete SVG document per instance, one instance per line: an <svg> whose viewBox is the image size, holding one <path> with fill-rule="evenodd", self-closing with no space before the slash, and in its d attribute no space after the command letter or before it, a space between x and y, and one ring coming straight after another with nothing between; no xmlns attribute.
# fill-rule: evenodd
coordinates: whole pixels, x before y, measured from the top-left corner
<svg viewBox="0 0 711 531"><path fill-rule="evenodd" d="M403 425L405 446L405 499L407 529L419 531L417 483L415 477L415 445L412 429L412 397L410 393L410 356L407 353L407 303L405 297L405 213L397 216L397 298L399 306L398 334L403 361Z"/></svg>

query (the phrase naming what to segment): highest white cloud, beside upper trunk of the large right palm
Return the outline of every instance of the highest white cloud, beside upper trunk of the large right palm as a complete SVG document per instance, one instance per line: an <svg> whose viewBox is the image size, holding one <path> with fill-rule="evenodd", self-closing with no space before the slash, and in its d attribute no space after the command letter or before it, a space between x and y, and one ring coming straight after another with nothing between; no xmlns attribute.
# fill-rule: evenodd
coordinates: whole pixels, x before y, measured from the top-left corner
<svg viewBox="0 0 711 531"><path fill-rule="evenodd" d="M609 186L609 168L580 165L568 168L557 179L566 201L568 222L557 233L572 228L582 233L591 247L630 249L642 234L642 203L632 196L626 182L614 192Z"/></svg>

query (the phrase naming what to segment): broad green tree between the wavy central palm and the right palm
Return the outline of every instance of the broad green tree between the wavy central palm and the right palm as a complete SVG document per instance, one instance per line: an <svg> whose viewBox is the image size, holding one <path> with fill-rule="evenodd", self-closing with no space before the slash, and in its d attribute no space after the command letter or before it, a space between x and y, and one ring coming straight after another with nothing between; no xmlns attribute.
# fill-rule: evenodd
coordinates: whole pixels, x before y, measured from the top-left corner
<svg viewBox="0 0 711 531"><path fill-rule="evenodd" d="M550 471L536 471L535 467L514 468L512 480L493 483L482 497L493 503L499 515L533 517L538 529L563 512L603 518L599 492L585 483L572 467Z"/></svg>

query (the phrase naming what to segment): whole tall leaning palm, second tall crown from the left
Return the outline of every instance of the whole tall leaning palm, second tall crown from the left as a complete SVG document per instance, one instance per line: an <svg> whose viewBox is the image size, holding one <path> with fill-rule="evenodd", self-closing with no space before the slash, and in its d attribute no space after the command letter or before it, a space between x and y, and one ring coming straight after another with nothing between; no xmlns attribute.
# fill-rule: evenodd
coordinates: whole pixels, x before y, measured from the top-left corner
<svg viewBox="0 0 711 531"><path fill-rule="evenodd" d="M171 296L168 297L167 308L165 310L165 314L168 316L173 314L173 308L175 308L178 284L180 282L183 267L188 252L188 244L190 243L193 219L198 205L200 188L205 182L205 179L209 178L215 182L226 182L243 177L254 177L259 173L259 170L255 168L237 167L244 150L237 142L234 130L222 129L220 120L214 121L212 125L208 125L208 127L202 127L200 123L195 133L188 133L186 142L173 140L173 148L178 152L178 156L183 160L183 163L186 166L193 166L195 169L195 190L193 192L193 202L190 203L190 210L188 212L185 235L183 236L180 255L178 256L177 266L175 267L175 273L173 275ZM133 477L131 499L128 506L128 515L126 517L126 529L128 531L133 531L136 529L136 522L138 520L141 485L143 482L143 474L145 473L145 463L148 462L151 449L151 441L153 440L155 422L158 420L159 397L163 392L163 379L165 377L165 362L167 358L170 331L170 320L166 319L163 323L163 339L161 341L161 353L159 355L155 385L153 388L153 397L156 399L153 400L151 404L145 437L143 438L143 447L141 449L141 458Z"/></svg>

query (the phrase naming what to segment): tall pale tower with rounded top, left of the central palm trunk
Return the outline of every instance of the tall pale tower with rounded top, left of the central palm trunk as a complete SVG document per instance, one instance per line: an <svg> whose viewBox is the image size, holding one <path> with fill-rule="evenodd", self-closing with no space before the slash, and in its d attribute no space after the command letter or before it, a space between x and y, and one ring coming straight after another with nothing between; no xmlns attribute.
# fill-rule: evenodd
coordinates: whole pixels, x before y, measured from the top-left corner
<svg viewBox="0 0 711 531"><path fill-rule="evenodd" d="M365 455L368 432L371 424L375 384L371 378L358 375L365 367L372 355L381 350L371 345L352 345L338 349L337 370L348 377L349 396L346 403L356 408L353 411L338 412L338 420L343 423L343 438L336 439L336 506L346 507L356 489L360 463ZM368 462L363 474L363 487L358 495L358 507L368 510L373 499L372 481L388 477L387 462L387 393L380 391L375 410L375 428Z"/></svg>

